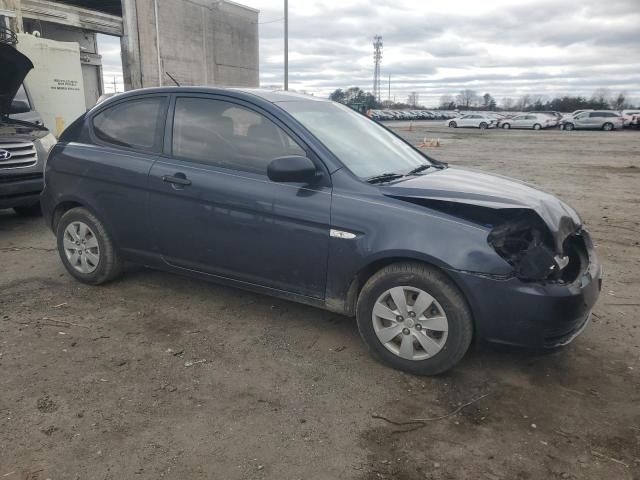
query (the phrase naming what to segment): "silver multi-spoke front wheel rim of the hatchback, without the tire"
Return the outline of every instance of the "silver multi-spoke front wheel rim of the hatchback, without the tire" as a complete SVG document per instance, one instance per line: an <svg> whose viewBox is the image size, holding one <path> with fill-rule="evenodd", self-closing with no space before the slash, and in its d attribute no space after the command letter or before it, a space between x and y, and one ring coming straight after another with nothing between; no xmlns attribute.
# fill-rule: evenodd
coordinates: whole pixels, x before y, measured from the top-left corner
<svg viewBox="0 0 640 480"><path fill-rule="evenodd" d="M431 358L447 342L449 322L444 309L419 288L386 290L376 300L371 316L378 340L405 360Z"/></svg>

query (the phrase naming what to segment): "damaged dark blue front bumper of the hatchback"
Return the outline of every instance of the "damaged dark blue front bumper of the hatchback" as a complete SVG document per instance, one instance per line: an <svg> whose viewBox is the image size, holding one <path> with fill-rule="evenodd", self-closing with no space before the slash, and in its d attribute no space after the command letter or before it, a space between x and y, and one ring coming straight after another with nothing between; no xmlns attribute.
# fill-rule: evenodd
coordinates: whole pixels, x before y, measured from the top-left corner
<svg viewBox="0 0 640 480"><path fill-rule="evenodd" d="M531 282L450 271L469 300L476 338L529 348L555 348L587 326L602 288L602 269L586 232L586 255L575 277Z"/></svg>

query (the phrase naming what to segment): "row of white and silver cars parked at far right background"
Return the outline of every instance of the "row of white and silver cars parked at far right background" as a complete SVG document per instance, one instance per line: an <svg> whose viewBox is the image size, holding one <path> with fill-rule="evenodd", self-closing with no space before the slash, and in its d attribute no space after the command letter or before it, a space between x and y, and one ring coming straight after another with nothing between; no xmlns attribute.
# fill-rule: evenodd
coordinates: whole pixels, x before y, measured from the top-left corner
<svg viewBox="0 0 640 480"><path fill-rule="evenodd" d="M638 128L640 126L640 110L576 110L564 115L560 112L527 112L521 114L505 114L496 112L473 112L459 117L447 119L450 128L526 128L542 130L544 128L560 128L562 130L616 130L622 128Z"/></svg>

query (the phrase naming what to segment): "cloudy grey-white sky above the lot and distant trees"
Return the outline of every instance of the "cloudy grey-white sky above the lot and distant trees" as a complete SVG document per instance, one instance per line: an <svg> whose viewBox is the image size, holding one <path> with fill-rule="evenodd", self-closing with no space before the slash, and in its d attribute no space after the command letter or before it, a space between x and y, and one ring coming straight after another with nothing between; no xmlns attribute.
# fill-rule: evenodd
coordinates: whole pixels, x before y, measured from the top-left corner
<svg viewBox="0 0 640 480"><path fill-rule="evenodd" d="M261 84L282 85L283 1L239 3L260 10ZM390 75L392 98L428 106L464 88L499 100L607 88L640 103L640 0L289 0L290 88L370 90L375 34L383 99ZM101 42L106 84L121 82L119 52Z"/></svg>

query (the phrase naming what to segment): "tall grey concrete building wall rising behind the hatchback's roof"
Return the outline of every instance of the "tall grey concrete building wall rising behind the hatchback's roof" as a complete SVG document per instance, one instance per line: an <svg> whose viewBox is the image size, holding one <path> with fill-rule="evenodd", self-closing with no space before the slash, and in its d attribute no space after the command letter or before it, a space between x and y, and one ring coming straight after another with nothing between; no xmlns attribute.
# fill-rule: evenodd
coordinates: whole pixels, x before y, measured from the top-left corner
<svg viewBox="0 0 640 480"><path fill-rule="evenodd" d="M125 88L258 86L258 11L220 0L123 0Z"/></svg>

